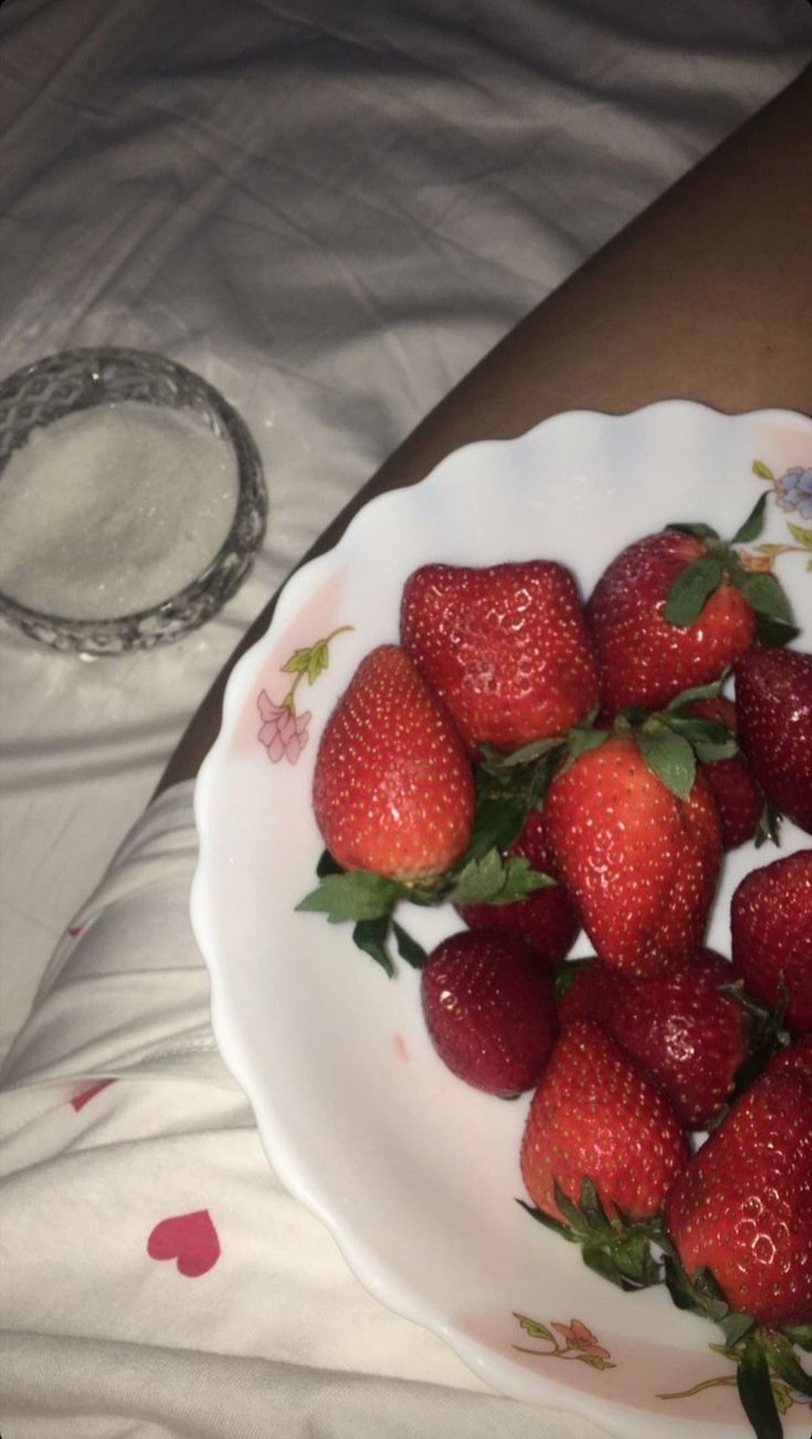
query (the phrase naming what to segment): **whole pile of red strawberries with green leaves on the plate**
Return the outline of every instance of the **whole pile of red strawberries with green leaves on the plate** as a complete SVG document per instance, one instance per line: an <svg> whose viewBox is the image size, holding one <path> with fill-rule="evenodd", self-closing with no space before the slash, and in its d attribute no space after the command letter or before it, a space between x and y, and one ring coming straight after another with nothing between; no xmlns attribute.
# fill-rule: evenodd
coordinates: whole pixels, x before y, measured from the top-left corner
<svg viewBox="0 0 812 1439"><path fill-rule="evenodd" d="M750 869L704 947L724 852L812 833L812 655L737 548L762 518L647 535L585 604L546 560L412 573L325 727L300 908L421 968L463 1081L533 1091L525 1207L720 1324L766 1436L775 1377L812 1396L812 848ZM402 901L458 932L425 955Z"/></svg>

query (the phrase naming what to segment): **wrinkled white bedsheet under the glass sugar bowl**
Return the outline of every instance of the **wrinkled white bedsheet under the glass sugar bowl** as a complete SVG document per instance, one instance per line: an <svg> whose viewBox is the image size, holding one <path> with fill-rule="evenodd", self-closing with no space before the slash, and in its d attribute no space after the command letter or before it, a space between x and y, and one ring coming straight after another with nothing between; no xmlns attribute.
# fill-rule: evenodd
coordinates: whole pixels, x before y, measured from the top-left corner
<svg viewBox="0 0 812 1439"><path fill-rule="evenodd" d="M0 371L96 342L200 370L253 429L270 524L174 649L82 663L1 626L0 1049L299 554L811 50L803 0L7 0Z"/></svg>

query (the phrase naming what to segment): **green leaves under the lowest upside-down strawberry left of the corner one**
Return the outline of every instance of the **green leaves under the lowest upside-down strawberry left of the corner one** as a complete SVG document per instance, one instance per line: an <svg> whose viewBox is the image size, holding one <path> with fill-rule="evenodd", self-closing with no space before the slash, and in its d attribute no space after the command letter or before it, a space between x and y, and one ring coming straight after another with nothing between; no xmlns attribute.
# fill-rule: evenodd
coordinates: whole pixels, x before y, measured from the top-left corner
<svg viewBox="0 0 812 1439"><path fill-rule="evenodd" d="M609 1216L594 1181L586 1176L581 1181L578 1203L568 1199L558 1184L553 1184L553 1197L565 1217L563 1223L523 1199L516 1203L545 1229L569 1243L581 1245L583 1263L618 1289L631 1292L663 1284L663 1262L652 1248L664 1242L660 1219L629 1219L617 1207Z"/></svg>

